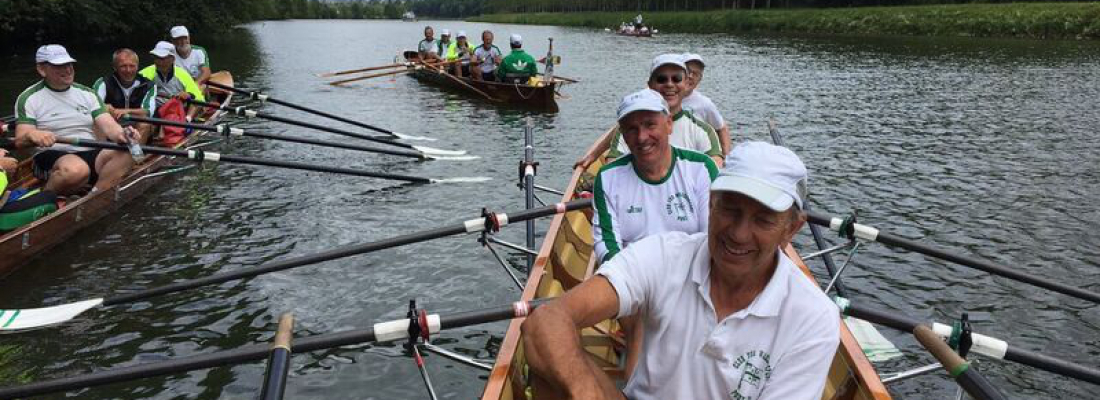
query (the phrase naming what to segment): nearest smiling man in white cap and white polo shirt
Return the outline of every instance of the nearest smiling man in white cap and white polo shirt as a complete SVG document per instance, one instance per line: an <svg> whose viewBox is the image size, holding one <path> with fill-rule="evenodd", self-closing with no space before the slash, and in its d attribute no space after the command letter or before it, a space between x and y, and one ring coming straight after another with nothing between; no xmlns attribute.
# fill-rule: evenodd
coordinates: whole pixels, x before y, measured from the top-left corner
<svg viewBox="0 0 1100 400"><path fill-rule="evenodd" d="M820 399L839 343L836 305L781 248L805 221L806 169L762 142L730 152L711 186L706 233L626 248L524 322L532 376L572 399ZM644 351L626 388L578 330L637 315Z"/></svg>

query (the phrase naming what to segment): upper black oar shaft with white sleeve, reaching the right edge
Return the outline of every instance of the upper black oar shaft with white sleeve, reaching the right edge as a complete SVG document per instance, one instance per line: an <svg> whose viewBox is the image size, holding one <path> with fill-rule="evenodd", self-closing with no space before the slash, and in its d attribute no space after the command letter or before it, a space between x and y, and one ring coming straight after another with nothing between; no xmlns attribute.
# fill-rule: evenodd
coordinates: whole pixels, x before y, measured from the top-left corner
<svg viewBox="0 0 1100 400"><path fill-rule="evenodd" d="M829 229L836 231L839 227L840 220L835 218L829 218L828 215L806 211L806 215L810 223L829 226ZM1063 295L1071 296L1078 299L1088 300L1094 303L1100 303L1100 293L1088 291L1081 288L1072 287L1066 284L1056 282L1050 279L1037 277L1026 273L1022 273L1007 266L998 265L992 262L980 259L977 257L964 256L960 254L952 253L943 248L926 245L916 241L908 240L888 232L882 232L871 226L856 224L855 226L856 237L882 243L887 246L901 247L911 252L921 253L927 256L936 257L943 260L948 260L958 265L967 266L978 270L982 270L989 274L1002 276L1012 280L1018 280L1025 284L1031 284L1050 291L1056 291Z"/></svg>

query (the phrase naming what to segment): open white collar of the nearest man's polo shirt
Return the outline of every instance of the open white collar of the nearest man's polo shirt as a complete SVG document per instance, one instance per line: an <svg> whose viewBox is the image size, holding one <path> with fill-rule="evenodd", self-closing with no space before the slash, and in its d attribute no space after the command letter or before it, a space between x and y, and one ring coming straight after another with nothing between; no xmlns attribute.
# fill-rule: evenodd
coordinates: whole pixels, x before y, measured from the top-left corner
<svg viewBox="0 0 1100 400"><path fill-rule="evenodd" d="M714 304L711 303L711 247L707 241L702 241L702 243L703 245L695 251L695 258L692 260L691 280L695 282L700 296L711 305L713 311ZM787 298L789 291L787 281L788 276L794 267L794 263L787 257L787 254L781 248L777 249L777 252L779 253L779 260L776 265L776 271L771 275L771 279L768 280L768 285L765 286L763 291L757 295L757 298L752 300L752 303L748 308L735 312L730 316L746 314L756 316L779 315L779 309L783 305L783 300Z"/></svg>

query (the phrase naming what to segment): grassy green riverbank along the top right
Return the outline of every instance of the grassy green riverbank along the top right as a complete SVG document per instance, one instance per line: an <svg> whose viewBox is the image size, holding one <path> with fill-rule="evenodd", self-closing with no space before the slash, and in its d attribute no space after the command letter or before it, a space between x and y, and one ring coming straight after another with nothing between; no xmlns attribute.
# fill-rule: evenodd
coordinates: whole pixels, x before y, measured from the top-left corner
<svg viewBox="0 0 1100 400"><path fill-rule="evenodd" d="M637 12L488 14L470 19L537 25L613 27ZM790 32L1057 40L1100 38L1100 3L941 4L849 9L647 12L660 32Z"/></svg>

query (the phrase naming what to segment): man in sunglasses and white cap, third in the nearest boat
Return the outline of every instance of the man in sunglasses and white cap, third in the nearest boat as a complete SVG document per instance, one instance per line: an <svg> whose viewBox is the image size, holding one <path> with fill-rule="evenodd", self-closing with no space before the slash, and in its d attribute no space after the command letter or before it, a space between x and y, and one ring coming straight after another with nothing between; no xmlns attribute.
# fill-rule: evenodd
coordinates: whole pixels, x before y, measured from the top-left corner
<svg viewBox="0 0 1100 400"><path fill-rule="evenodd" d="M688 67L684 66L683 57L680 54L662 54L653 58L647 85L650 89L661 93L664 101L669 103L669 111L672 113L672 136L670 137L672 145L703 153L713 158L721 168L725 158L717 132L711 127L711 124L695 116L691 110L682 107L683 96L686 92L686 80ZM608 163L630 153L630 148L622 140L619 132L609 135L608 140L600 143L596 149L590 154L595 156L606 151ZM587 167L594 160L586 157L578 160L576 164Z"/></svg>

